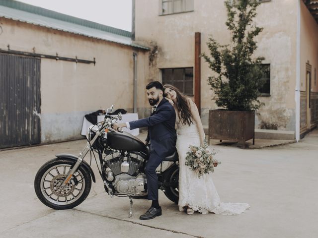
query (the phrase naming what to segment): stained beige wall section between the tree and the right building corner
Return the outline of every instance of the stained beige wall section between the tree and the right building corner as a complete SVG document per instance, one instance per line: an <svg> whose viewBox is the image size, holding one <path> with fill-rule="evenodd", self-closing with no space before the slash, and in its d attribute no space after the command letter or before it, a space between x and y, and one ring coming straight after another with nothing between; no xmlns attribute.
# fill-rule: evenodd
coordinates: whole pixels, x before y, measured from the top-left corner
<svg viewBox="0 0 318 238"><path fill-rule="evenodd" d="M270 63L270 97L261 97L256 126L264 122L278 129L295 131L297 49L297 1L262 3L256 22L264 27L258 37L258 55ZM258 125L257 125L258 124Z"/></svg>

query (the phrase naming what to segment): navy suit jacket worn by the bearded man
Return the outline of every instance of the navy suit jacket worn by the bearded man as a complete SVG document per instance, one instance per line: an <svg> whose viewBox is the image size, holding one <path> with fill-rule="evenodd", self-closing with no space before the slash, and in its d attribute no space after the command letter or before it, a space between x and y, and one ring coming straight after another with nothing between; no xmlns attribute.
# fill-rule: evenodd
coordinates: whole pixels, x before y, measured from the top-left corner
<svg viewBox="0 0 318 238"><path fill-rule="evenodd" d="M160 157L175 151L175 111L166 99L161 100L149 118L130 121L129 125L131 129L148 126L147 141L151 140L153 149Z"/></svg>

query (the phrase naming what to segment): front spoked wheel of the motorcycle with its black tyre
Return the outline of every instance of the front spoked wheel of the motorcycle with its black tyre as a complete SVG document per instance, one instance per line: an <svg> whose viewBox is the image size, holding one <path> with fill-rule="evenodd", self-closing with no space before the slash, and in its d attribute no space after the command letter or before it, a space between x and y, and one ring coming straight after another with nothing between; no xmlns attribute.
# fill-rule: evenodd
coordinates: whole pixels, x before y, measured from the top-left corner
<svg viewBox="0 0 318 238"><path fill-rule="evenodd" d="M70 209L78 206L87 197L91 179L83 167L73 175L66 186L62 186L74 161L56 158L45 163L34 180L36 195L46 206L53 209Z"/></svg>

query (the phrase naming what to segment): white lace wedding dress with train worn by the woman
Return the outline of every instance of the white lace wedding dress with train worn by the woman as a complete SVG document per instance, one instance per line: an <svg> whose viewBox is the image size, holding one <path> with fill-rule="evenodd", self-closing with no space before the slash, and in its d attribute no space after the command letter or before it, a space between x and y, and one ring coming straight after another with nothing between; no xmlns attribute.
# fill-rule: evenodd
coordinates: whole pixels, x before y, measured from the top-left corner
<svg viewBox="0 0 318 238"><path fill-rule="evenodd" d="M184 125L176 117L177 141L176 148L179 154L179 210L189 206L202 214L213 212L222 215L238 215L249 208L247 203L220 202L219 194L214 186L212 174L204 174L198 178L194 171L186 166L185 157L189 145L200 146L200 137L196 123Z"/></svg>

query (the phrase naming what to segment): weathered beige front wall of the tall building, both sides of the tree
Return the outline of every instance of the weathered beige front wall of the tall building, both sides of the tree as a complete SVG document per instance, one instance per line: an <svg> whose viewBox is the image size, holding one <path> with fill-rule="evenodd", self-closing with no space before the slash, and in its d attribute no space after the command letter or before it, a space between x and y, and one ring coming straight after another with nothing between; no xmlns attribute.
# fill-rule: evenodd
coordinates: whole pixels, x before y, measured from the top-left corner
<svg viewBox="0 0 318 238"><path fill-rule="evenodd" d="M147 9L145 11L144 9ZM225 25L227 18L223 0L195 0L194 11L159 16L158 1L136 1L136 41L158 45L152 77L160 80L159 68L194 67L194 34L201 32L201 51L208 52L209 35L221 44L230 43ZM271 96L262 97L266 106L256 117L256 127L261 121L276 123L278 129L295 129L296 85L296 31L297 1L272 0L262 3L256 18L264 27L257 38L259 49L255 56L266 58L271 64ZM201 118L208 123L208 111L216 109L213 93L207 83L212 74L204 60L201 61Z"/></svg>

